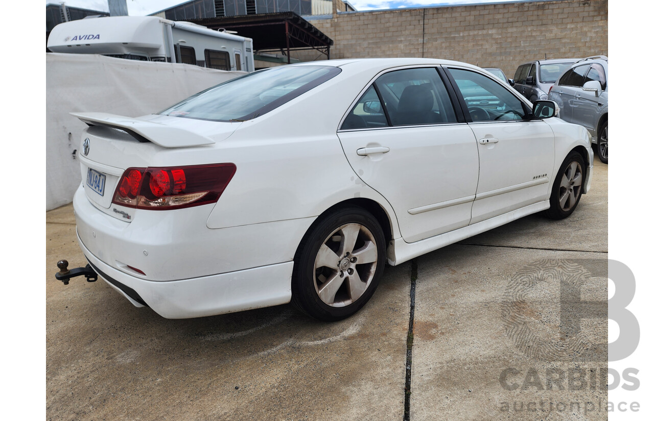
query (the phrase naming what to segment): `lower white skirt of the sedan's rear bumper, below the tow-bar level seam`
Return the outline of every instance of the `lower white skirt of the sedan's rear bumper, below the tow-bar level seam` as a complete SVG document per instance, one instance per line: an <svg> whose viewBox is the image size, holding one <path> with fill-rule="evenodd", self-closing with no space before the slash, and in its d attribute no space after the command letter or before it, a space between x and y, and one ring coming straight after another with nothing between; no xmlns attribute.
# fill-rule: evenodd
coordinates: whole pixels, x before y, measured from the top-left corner
<svg viewBox="0 0 654 421"><path fill-rule="evenodd" d="M146 281L105 264L79 236L77 239L86 260L104 281L132 304L148 305L166 319L212 316L290 302L293 262L179 281Z"/></svg>

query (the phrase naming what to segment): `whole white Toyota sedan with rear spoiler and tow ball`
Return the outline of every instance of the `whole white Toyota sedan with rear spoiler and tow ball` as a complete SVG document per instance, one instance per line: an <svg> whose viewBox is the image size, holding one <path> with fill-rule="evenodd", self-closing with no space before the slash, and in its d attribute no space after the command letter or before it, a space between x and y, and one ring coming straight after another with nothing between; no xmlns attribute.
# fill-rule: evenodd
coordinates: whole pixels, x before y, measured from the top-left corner
<svg viewBox="0 0 654 421"><path fill-rule="evenodd" d="M261 70L149 116L75 114L89 125L78 240L91 273L163 317L293 302L343 319L385 264L570 215L593 151L556 112L466 63L350 59Z"/></svg>

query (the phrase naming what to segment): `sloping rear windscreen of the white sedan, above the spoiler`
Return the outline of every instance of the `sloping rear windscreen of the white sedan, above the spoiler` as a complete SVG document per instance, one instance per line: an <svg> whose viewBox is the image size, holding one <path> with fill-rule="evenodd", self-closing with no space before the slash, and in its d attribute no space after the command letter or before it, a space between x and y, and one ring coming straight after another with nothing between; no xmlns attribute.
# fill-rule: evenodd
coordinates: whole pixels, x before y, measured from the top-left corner
<svg viewBox="0 0 654 421"><path fill-rule="evenodd" d="M249 120L274 110L340 72L341 69L331 66L261 70L196 93L159 114L211 121Z"/></svg>

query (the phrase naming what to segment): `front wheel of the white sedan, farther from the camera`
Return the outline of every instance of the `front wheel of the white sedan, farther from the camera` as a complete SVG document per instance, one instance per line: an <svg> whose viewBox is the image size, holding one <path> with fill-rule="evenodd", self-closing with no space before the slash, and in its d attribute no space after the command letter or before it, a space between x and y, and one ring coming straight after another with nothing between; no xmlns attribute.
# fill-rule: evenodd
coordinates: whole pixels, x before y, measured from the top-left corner
<svg viewBox="0 0 654 421"><path fill-rule="evenodd" d="M581 154L572 151L568 154L554 179L549 196L549 209L545 215L551 219L564 219L574 212L581 198L581 189L586 179L586 167Z"/></svg>

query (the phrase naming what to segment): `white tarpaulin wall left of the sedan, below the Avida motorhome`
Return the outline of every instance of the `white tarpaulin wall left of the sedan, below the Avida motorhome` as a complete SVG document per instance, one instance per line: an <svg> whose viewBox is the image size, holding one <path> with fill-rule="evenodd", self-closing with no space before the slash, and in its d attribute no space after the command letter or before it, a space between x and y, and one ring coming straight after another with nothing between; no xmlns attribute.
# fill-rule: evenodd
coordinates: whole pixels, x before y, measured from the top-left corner
<svg viewBox="0 0 654 421"><path fill-rule="evenodd" d="M82 181L77 149L86 124L69 113L145 116L241 74L245 72L46 53L46 210L72 202Z"/></svg>

